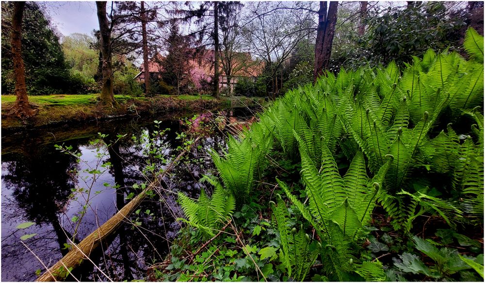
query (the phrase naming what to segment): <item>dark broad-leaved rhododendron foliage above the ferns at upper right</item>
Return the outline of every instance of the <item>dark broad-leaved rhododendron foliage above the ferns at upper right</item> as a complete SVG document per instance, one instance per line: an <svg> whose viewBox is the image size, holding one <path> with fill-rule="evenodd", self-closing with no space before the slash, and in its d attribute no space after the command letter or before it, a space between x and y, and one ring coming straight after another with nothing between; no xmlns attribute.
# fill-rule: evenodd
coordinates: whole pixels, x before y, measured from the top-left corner
<svg viewBox="0 0 485 283"><path fill-rule="evenodd" d="M430 48L438 52L460 48L467 25L464 13L454 12L443 1L410 3L406 7L398 4L370 8L365 19L366 33L352 36L353 45L332 54L335 67L331 69L336 71L342 65L353 69L367 64L373 67L393 60L403 65L412 56L422 58Z"/></svg>

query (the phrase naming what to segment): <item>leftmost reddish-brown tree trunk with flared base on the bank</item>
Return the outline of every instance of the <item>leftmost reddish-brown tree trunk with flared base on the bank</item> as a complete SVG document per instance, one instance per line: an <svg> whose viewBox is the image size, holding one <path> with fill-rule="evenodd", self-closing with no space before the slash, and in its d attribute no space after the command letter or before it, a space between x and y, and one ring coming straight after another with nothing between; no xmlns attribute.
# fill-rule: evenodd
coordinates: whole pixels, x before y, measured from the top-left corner
<svg viewBox="0 0 485 283"><path fill-rule="evenodd" d="M10 110L10 115L17 117L31 117L37 113L29 103L27 86L25 85L25 67L22 59L22 17L25 2L14 2L14 14L12 15L12 57L15 74L15 104Z"/></svg>

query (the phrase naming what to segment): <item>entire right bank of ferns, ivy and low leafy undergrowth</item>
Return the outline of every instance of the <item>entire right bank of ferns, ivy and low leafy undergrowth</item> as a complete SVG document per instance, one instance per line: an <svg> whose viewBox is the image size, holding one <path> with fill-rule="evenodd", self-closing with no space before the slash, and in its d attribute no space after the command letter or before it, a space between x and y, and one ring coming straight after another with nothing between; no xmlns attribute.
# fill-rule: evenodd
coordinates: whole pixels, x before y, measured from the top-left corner
<svg viewBox="0 0 485 283"><path fill-rule="evenodd" d="M210 154L154 281L483 281L484 38L326 72Z"/></svg>

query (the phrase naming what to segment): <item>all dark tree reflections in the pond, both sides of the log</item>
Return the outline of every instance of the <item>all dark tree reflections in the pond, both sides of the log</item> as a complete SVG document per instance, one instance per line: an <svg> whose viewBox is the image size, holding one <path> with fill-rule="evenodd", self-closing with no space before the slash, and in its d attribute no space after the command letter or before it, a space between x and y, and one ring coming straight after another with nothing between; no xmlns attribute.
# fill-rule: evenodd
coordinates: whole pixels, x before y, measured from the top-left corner
<svg viewBox="0 0 485 283"><path fill-rule="evenodd" d="M235 112L225 113L226 115L236 116ZM170 159L170 155L178 154L177 147L182 146L183 141L176 139L177 133L187 128L178 120L164 121L160 125L160 130L165 128L170 128L170 131L165 132L157 144L162 146L164 157ZM131 136L134 134L137 137L136 140L139 140L141 135L151 136L156 130L158 129L154 127L153 122L142 124L118 122L96 129L96 132L94 130L90 132L92 136L97 132L108 134L104 142L112 144L108 149L109 156L104 162L112 164L109 173L113 176L114 182L111 181L111 184L119 185L115 202L112 204L117 209L121 209L128 203L129 200L125 198L129 193L139 192L132 187L134 183L143 183L151 179L150 176L146 177L141 173L141 169L146 165L146 156L142 154L144 145L135 143ZM117 134L126 134L126 136L113 143ZM72 145L74 150L86 143L86 138L72 139L66 142L66 145ZM146 267L154 261L162 260L168 252L170 241L180 228L180 224L176 221L176 218L181 216L176 202L177 192L182 191L197 197L200 186L205 185L198 182L202 174L214 173L208 151L210 148L219 150L225 147L225 134L215 131L201 139L198 145L201 146L200 149L194 147L185 156L185 161L178 163L169 176L165 176L162 182L164 190L161 190L161 195L157 194L155 198L145 200L139 207L140 213L132 214L113 238L103 243L102 248L91 257L95 264L114 281L143 278L146 276ZM12 161L3 163L8 174L3 176L2 181L7 187L13 188L13 196L18 207L22 209L20 214L25 214L32 222L52 224L58 236L56 240L63 247L66 237L59 224L59 215L65 209L71 189L75 186L68 171L76 166L76 159L55 150L53 144L38 146L37 143L24 147L21 151L25 153L2 155L3 161ZM144 213L146 210L150 210L153 216L146 215ZM135 227L130 222L135 220L142 224ZM86 264L79 270L75 269L75 272L78 278L84 280L107 280L96 268L93 268L92 264Z"/></svg>

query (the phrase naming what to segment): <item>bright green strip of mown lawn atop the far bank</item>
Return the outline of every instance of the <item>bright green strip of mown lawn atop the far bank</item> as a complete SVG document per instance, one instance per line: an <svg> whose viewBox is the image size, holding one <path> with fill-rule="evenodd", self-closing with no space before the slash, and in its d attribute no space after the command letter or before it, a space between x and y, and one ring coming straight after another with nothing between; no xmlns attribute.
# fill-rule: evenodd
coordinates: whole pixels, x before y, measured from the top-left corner
<svg viewBox="0 0 485 283"><path fill-rule="evenodd" d="M29 101L35 104L40 104L42 106L68 106L68 105L86 105L92 104L96 102L97 96L99 94L52 94L52 95L35 95L29 96ZM156 97L163 97L163 98L174 98L179 100L199 100L200 96L198 95L159 95ZM114 98L119 102L123 100L131 99L128 95L115 95ZM146 100L144 97L135 98L137 100ZM203 100L212 100L213 97L210 95L203 95ZM15 102L15 95L2 95L1 96L1 103L9 103Z"/></svg>

